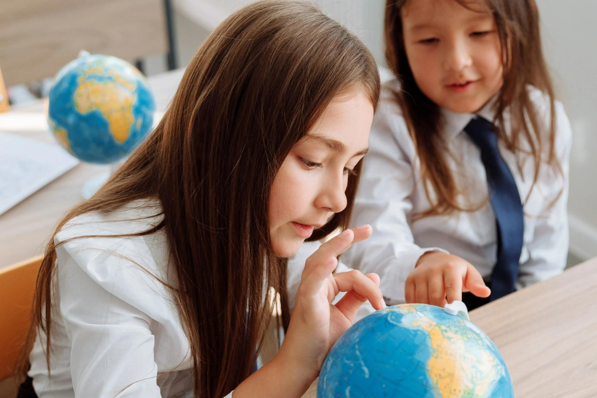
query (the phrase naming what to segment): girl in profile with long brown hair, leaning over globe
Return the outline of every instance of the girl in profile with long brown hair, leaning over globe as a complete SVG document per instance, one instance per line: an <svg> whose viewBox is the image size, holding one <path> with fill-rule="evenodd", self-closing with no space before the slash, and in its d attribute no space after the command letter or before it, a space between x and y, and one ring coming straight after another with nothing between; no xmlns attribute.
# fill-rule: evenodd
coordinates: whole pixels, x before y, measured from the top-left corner
<svg viewBox="0 0 597 398"><path fill-rule="evenodd" d="M376 274L333 273L367 225L309 257L292 316L286 289L301 243L346 229L379 91L364 44L312 5L259 1L221 23L155 131L57 227L31 392L300 397L361 304L384 306ZM285 337L255 371L272 313Z"/></svg>

